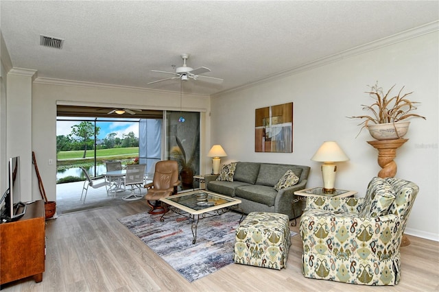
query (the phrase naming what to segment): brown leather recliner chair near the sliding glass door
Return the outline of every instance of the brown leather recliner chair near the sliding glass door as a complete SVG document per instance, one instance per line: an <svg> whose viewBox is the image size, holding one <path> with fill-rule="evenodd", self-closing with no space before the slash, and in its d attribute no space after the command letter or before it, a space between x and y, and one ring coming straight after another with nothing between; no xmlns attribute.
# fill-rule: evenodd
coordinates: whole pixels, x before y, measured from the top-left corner
<svg viewBox="0 0 439 292"><path fill-rule="evenodd" d="M148 212L150 214L163 214L167 212L167 206L163 205L160 199L162 197L169 197L169 195L175 195L179 184L178 163L175 160L157 162L154 179L149 184L145 184L145 188L148 190L145 199L152 208Z"/></svg>

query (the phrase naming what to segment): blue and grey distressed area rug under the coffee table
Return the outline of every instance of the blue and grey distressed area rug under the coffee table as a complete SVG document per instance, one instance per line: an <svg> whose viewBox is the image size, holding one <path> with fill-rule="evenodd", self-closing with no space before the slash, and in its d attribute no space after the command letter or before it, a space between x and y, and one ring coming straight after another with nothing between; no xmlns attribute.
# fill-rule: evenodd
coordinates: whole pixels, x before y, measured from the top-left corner
<svg viewBox="0 0 439 292"><path fill-rule="evenodd" d="M174 212L167 213L164 222L160 217L143 212L118 220L189 282L233 263L240 214L200 219L195 244L189 219Z"/></svg>

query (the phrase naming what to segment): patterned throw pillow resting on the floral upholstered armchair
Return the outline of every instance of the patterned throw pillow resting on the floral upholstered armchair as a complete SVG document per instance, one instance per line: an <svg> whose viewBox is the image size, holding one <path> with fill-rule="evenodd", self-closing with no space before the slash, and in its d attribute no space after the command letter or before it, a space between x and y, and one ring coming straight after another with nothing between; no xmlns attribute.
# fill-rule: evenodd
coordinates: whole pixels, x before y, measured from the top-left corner
<svg viewBox="0 0 439 292"><path fill-rule="evenodd" d="M372 178L364 196L364 204L359 217L372 218L387 215L395 195L392 186L383 178Z"/></svg>

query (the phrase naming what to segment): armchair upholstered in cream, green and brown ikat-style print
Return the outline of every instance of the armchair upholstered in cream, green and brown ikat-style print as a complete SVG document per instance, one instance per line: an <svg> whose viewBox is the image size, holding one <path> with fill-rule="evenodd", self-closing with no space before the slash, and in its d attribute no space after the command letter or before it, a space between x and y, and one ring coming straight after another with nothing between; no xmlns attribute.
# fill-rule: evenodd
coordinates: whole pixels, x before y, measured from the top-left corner
<svg viewBox="0 0 439 292"><path fill-rule="evenodd" d="M373 178L365 197L309 197L300 219L302 273L351 284L395 285L399 247L418 186Z"/></svg>

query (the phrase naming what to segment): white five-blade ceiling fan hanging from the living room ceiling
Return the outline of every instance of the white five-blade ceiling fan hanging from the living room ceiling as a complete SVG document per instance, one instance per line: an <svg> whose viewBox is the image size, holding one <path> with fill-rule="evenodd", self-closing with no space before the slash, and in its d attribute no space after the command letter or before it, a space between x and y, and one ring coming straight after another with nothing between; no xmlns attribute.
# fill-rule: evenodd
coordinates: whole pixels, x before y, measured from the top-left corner
<svg viewBox="0 0 439 292"><path fill-rule="evenodd" d="M174 75L174 77L169 77L169 78L165 78L165 79L161 79L161 80L156 80L156 81L153 81L153 82L149 82L148 84L162 82L162 81L165 81L165 80L173 80L173 79L177 79L177 78L180 78L182 81L187 81L187 80L189 80L189 78L192 78L193 80L206 80L206 81L209 81L209 82L217 82L217 83L223 82L223 80L221 78L200 75L202 73L211 72L211 69L209 69L209 68L199 67L197 69L193 69L193 68L187 66L186 60L189 58L189 54L183 53L181 55L181 58L183 59L183 65L180 66L180 67L177 67L177 68L175 68L175 65L174 65L175 72L151 70L151 72L155 72L155 73L171 74L171 75Z"/></svg>

